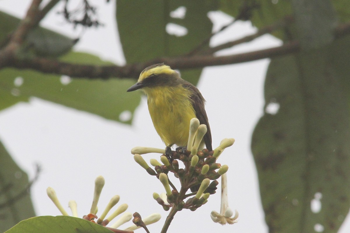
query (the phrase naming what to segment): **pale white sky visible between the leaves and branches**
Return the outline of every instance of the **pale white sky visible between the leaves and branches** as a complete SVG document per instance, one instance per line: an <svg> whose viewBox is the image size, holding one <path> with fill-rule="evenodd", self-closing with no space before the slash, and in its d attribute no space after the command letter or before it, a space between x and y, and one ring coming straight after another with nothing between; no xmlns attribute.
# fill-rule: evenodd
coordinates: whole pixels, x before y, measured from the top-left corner
<svg viewBox="0 0 350 233"><path fill-rule="evenodd" d="M0 10L22 17L29 3L28 0L2 0ZM123 65L125 59L114 20L115 1L106 4L105 1L94 0L91 3L99 6L99 19L105 27L88 29L75 50L97 54L102 59ZM80 30L73 30L61 16L55 14L61 9L62 4L59 4L41 25L78 37ZM231 17L213 13L211 19L214 20L215 30L230 22ZM254 31L256 29L250 23L237 22L215 36L210 43L216 45ZM279 44L277 39L266 35L221 54L252 51ZM232 209L239 211L239 222L221 226L211 221L210 212L220 210L218 192L211 195L209 202L196 211L178 212L169 232L267 232L250 139L263 111L263 84L268 62L268 59L263 59L204 68L198 83L198 88L207 100L206 110L213 147L217 147L223 138L236 139L235 144L225 150L218 162L229 165L229 203ZM164 147L153 127L146 98L142 99L135 111L131 126L31 98L29 103L18 103L0 112L0 139L30 177L34 175L36 162L42 166L40 178L32 188L37 215L60 215L46 195L49 186L56 190L68 212L68 201L74 199L78 203L79 216L89 213L94 179L102 175L106 184L98 204L99 213L110 198L117 194L120 195L119 204L129 205L128 212L137 211L142 217L154 212L161 213L162 219L149 226L151 232L160 231L168 212L153 200L152 193L164 192L163 187L155 177L137 165L130 154L131 148L135 146ZM151 158L158 159L159 154L147 154L144 158L148 162ZM131 222L124 226L129 225ZM347 220L340 232L349 231L350 223Z"/></svg>

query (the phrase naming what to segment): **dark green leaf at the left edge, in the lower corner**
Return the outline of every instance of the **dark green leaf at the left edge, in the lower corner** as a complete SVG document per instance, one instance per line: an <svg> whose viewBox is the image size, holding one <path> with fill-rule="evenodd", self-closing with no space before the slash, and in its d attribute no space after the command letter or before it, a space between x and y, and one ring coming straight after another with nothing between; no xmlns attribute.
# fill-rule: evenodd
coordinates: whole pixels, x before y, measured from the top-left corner
<svg viewBox="0 0 350 233"><path fill-rule="evenodd" d="M23 219L35 216L28 188L28 176L12 160L0 142L0 232Z"/></svg>

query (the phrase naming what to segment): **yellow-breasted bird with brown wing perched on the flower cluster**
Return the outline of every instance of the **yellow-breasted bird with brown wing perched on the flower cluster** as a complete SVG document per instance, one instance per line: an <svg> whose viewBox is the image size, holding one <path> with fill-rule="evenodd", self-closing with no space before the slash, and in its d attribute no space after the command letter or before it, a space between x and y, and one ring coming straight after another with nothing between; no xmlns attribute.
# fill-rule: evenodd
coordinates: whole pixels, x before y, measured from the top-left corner
<svg viewBox="0 0 350 233"><path fill-rule="evenodd" d="M211 132L204 98L191 83L183 80L170 66L155 64L141 72L139 80L127 92L141 89L147 95L149 115L155 130L167 147L174 144L186 147L190 120L198 118L200 124L207 125L200 150L211 147Z"/></svg>

